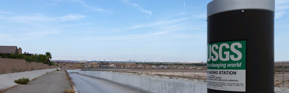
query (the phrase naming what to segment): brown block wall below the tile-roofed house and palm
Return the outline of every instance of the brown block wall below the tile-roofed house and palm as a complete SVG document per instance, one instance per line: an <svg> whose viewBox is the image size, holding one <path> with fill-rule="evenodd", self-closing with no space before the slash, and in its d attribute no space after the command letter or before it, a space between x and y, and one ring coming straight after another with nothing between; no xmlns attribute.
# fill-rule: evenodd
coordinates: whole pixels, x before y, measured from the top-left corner
<svg viewBox="0 0 289 93"><path fill-rule="evenodd" d="M0 74L11 73L12 69L17 69L20 71L30 71L31 68L34 70L40 69L50 69L50 68L58 68L58 66L49 66L47 64L42 63L28 63L26 60L21 59L7 59L7 58L0 58Z"/></svg>

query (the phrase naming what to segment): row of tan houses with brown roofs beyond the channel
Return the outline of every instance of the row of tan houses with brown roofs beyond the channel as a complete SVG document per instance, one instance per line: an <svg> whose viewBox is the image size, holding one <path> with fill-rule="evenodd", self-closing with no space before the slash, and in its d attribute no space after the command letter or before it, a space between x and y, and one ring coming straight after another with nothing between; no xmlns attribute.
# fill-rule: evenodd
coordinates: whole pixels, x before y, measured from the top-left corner
<svg viewBox="0 0 289 93"><path fill-rule="evenodd" d="M74 68L140 68L140 69L207 69L207 66L192 66L192 65L147 65L147 64L122 64L122 63L64 63L61 67Z"/></svg>

